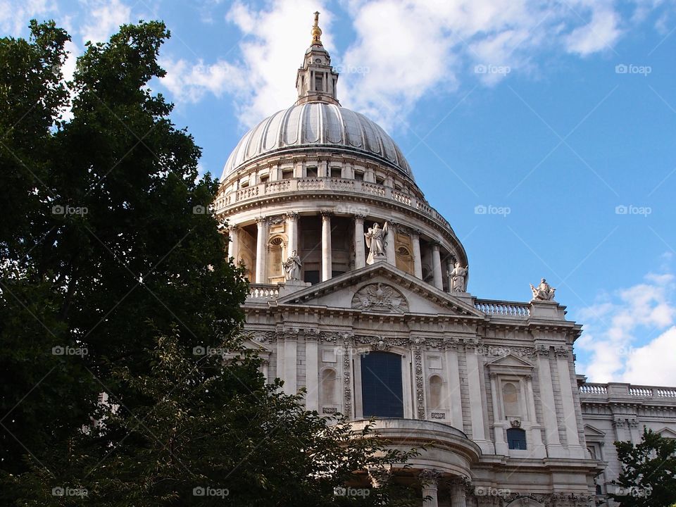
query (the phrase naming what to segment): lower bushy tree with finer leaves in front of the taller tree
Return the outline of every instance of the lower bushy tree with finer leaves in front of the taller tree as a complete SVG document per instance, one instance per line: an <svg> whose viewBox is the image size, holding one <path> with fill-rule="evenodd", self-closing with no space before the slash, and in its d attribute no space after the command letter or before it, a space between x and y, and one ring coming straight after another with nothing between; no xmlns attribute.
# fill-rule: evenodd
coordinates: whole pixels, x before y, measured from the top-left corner
<svg viewBox="0 0 676 507"><path fill-rule="evenodd" d="M146 403L102 406L102 425L15 483L20 505L408 505L394 484L368 487L365 471L401 465L414 451L387 449L371 427L353 434L342 416L304 411L300 395L266 384L251 353L196 364L180 342L176 333L158 339L147 374L115 368ZM335 495L344 484L358 494ZM55 496L59 489L70 494Z"/></svg>

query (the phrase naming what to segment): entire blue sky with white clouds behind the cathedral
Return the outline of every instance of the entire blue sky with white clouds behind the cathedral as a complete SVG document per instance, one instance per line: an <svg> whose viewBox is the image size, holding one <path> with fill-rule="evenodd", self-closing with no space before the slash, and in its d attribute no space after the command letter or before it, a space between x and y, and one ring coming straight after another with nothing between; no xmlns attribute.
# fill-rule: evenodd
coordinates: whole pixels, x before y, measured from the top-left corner
<svg viewBox="0 0 676 507"><path fill-rule="evenodd" d="M54 18L75 56L164 20L152 87L220 175L294 101L315 10L339 99L401 146L465 245L470 292L525 301L546 277L584 324L578 372L676 385L674 1L0 0L0 30Z"/></svg>

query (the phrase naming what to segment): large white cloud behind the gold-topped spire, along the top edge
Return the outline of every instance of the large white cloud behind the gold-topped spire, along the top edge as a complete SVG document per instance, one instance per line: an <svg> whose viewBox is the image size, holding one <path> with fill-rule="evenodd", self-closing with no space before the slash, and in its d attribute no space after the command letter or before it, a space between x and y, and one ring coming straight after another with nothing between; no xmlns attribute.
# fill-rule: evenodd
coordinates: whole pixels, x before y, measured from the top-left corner
<svg viewBox="0 0 676 507"><path fill-rule="evenodd" d="M635 1L636 9L653 8L648 0ZM232 93L241 123L255 125L295 101L296 69L317 10L334 66L356 70L341 74L339 100L392 129L405 124L425 96L449 94L463 81L494 86L513 73L530 74L543 56L611 51L624 33L612 0L351 0L345 5L355 39L338 54L331 39L334 15L322 0L279 0L262 8L237 1L227 14L243 37L234 48L237 56L213 64L168 61L165 66L175 75L165 84L177 101ZM233 82L205 79L223 70Z"/></svg>

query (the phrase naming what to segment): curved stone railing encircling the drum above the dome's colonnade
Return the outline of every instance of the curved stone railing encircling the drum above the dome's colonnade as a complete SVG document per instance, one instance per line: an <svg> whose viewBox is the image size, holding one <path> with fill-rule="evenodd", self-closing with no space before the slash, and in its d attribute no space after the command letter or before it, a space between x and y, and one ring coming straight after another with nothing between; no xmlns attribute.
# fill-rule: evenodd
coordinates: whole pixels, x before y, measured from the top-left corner
<svg viewBox="0 0 676 507"><path fill-rule="evenodd" d="M386 187L382 184L365 182L361 180L350 180L346 178L328 178L328 177L303 177L292 178L290 180L277 180L273 182L263 182L252 185L244 189L239 189L229 194L219 196L215 201L215 209L217 213L223 211L226 206L232 206L251 199L261 199L263 196L270 196L275 194L293 194L296 192L312 192L315 190L327 190L330 192L350 192L356 194L368 194L381 199L392 199L406 206L427 215L433 220L437 220L446 227L451 227L448 220L437 211L430 207L423 199L418 198L412 194L405 194L399 192L392 187Z"/></svg>

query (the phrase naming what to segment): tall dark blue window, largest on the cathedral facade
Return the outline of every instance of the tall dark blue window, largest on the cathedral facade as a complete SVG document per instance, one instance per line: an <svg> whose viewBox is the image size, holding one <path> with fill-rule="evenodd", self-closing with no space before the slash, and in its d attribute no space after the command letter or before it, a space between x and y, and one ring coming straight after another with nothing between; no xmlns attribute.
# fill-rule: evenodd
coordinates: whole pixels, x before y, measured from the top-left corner
<svg viewBox="0 0 676 507"><path fill-rule="evenodd" d="M365 418L403 418L401 356L371 352L361 356L361 401Z"/></svg>

